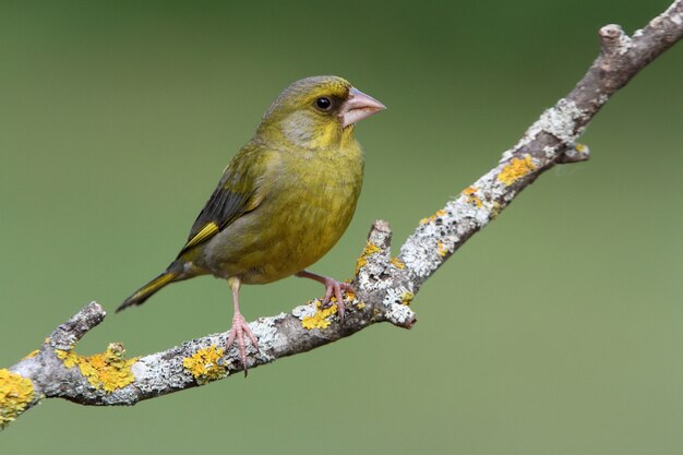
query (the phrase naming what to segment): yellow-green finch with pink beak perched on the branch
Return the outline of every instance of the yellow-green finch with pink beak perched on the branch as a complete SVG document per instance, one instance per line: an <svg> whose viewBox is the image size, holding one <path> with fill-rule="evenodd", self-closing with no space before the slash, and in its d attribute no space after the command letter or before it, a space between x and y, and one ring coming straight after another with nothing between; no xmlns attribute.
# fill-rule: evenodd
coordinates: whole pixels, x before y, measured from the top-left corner
<svg viewBox="0 0 683 455"><path fill-rule="evenodd" d="M344 320L348 283L308 270L348 227L363 180L356 123L386 107L343 77L311 76L285 88L253 137L225 168L176 259L117 312L144 303L165 286L201 275L226 279L233 303L227 348L237 342L247 375L247 343L259 342L239 306L242 285L288 276L325 286Z"/></svg>

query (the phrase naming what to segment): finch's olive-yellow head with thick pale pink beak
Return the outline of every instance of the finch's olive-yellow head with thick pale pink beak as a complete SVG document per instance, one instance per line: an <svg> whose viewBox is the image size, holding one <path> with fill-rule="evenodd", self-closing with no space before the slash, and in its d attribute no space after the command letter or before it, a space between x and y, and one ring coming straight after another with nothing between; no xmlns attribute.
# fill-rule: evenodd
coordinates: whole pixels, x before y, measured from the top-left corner
<svg viewBox="0 0 683 455"><path fill-rule="evenodd" d="M354 139L354 124L386 107L337 76L295 82L266 111L256 134L315 149Z"/></svg>

